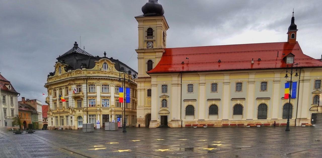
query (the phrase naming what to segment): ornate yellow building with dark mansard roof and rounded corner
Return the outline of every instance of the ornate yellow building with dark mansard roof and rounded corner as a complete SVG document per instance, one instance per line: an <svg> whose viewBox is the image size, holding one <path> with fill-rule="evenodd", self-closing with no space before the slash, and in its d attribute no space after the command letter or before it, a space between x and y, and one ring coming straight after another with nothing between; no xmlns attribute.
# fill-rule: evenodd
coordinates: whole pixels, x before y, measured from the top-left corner
<svg viewBox="0 0 322 158"><path fill-rule="evenodd" d="M45 87L48 90L46 103L48 129L82 129L83 123L99 121L120 122L122 104L119 102L119 87L123 85L120 71L136 71L112 57L93 56L78 47L60 55L54 72L48 75ZM121 79L120 79L121 78ZM136 125L137 83L131 75L125 75L125 86L130 87L130 103L125 105L127 126ZM62 96L66 102L60 99Z"/></svg>

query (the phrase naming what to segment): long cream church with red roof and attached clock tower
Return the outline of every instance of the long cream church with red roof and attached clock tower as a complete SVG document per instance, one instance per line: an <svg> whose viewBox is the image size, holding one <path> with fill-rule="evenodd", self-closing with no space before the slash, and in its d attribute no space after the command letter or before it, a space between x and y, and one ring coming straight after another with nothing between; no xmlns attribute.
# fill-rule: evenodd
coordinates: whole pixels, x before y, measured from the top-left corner
<svg viewBox="0 0 322 158"><path fill-rule="evenodd" d="M305 55L294 16L286 42L166 48L162 5L149 0L138 22L137 126L310 123L321 113L322 62ZM284 99L287 66L298 63L296 98ZM295 69L294 69L295 70Z"/></svg>

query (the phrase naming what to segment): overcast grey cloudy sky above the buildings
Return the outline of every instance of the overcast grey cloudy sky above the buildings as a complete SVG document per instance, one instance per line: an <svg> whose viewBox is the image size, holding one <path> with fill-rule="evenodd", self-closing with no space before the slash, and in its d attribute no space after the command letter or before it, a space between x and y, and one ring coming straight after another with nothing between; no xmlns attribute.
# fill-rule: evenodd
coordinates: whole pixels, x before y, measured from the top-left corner
<svg viewBox="0 0 322 158"><path fill-rule="evenodd" d="M92 55L137 70L137 21L147 0L0 0L0 72L44 103L47 74L74 41ZM159 0L170 29L167 47L287 41L294 8L303 52L322 53L322 1ZM132 56L133 55L133 56ZM20 97L19 97L20 100Z"/></svg>

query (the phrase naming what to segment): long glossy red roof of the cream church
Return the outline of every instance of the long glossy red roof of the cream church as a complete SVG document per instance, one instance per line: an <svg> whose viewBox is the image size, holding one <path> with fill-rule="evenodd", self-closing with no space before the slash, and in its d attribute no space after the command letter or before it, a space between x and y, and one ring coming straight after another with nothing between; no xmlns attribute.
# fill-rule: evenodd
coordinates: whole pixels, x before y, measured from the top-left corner
<svg viewBox="0 0 322 158"><path fill-rule="evenodd" d="M283 58L289 53L295 55L298 67L322 67L322 62L303 54L298 42L276 42L165 48L160 62L148 73L286 68Z"/></svg>

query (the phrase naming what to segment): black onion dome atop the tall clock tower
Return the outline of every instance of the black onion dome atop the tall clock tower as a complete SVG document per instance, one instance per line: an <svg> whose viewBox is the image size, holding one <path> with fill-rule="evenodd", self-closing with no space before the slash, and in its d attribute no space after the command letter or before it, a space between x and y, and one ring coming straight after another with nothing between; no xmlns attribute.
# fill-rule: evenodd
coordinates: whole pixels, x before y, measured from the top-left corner
<svg viewBox="0 0 322 158"><path fill-rule="evenodd" d="M158 0L149 0L142 6L142 12L145 16L163 15L164 10L161 4L158 4Z"/></svg>

